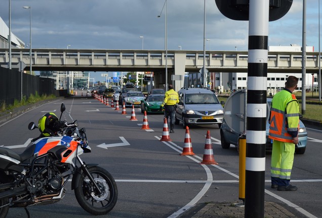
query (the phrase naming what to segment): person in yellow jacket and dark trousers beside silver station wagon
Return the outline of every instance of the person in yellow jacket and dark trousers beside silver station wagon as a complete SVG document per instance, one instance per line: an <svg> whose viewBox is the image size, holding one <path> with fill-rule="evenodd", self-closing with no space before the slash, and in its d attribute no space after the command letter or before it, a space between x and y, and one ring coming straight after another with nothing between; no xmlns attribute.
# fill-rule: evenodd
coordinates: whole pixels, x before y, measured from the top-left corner
<svg viewBox="0 0 322 218"><path fill-rule="evenodd" d="M176 113L175 105L179 103L179 95L178 92L173 89L173 86L171 84L168 86L168 88L169 90L166 91L165 99L160 105L160 109L165 106L165 118L167 119L168 123L168 118L170 117L170 133L174 133L173 127Z"/></svg>

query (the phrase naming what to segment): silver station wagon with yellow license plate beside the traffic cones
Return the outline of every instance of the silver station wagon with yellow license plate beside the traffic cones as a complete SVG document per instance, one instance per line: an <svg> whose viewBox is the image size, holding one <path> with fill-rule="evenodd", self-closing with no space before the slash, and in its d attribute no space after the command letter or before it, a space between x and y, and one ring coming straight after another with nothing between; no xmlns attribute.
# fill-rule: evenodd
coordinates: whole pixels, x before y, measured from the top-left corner
<svg viewBox="0 0 322 218"><path fill-rule="evenodd" d="M175 124L180 121L183 128L191 124L218 124L223 120L224 101L219 102L214 92L204 88L185 88L178 91L179 103L176 108Z"/></svg>

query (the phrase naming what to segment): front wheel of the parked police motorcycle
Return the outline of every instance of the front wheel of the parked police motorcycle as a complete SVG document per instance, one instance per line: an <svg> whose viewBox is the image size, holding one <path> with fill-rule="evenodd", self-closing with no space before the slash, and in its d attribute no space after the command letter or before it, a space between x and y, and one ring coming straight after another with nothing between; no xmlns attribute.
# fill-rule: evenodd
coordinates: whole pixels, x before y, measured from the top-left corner
<svg viewBox="0 0 322 218"><path fill-rule="evenodd" d="M101 193L95 190L94 184L83 172L79 179L78 186L75 188L75 197L83 209L94 215L103 215L108 213L117 201L117 186L112 175L100 167L91 167L88 169L98 185Z"/></svg>

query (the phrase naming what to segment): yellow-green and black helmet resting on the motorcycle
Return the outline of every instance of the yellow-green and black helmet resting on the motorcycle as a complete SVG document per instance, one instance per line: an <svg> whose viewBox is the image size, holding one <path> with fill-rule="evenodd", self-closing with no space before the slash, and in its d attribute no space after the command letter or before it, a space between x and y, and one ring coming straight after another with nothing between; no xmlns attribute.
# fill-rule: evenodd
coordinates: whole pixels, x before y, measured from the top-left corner
<svg viewBox="0 0 322 218"><path fill-rule="evenodd" d="M43 136L54 136L59 130L59 119L54 113L47 113L39 119L38 128Z"/></svg>

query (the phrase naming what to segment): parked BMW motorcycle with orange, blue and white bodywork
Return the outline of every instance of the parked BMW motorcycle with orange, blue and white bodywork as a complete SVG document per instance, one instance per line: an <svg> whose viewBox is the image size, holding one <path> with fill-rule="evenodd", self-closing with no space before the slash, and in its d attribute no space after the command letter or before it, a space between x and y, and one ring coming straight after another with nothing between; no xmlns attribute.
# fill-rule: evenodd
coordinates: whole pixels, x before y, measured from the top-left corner
<svg viewBox="0 0 322 218"><path fill-rule="evenodd" d="M77 128L76 120L61 121L65 110L62 103L54 136L41 134L21 154L0 147L0 218L7 216L10 207L24 207L30 217L27 206L58 202L70 180L78 204L87 212L103 215L115 206L115 180L105 169L79 157L91 152L86 131ZM29 130L36 128L33 122L28 125Z"/></svg>

